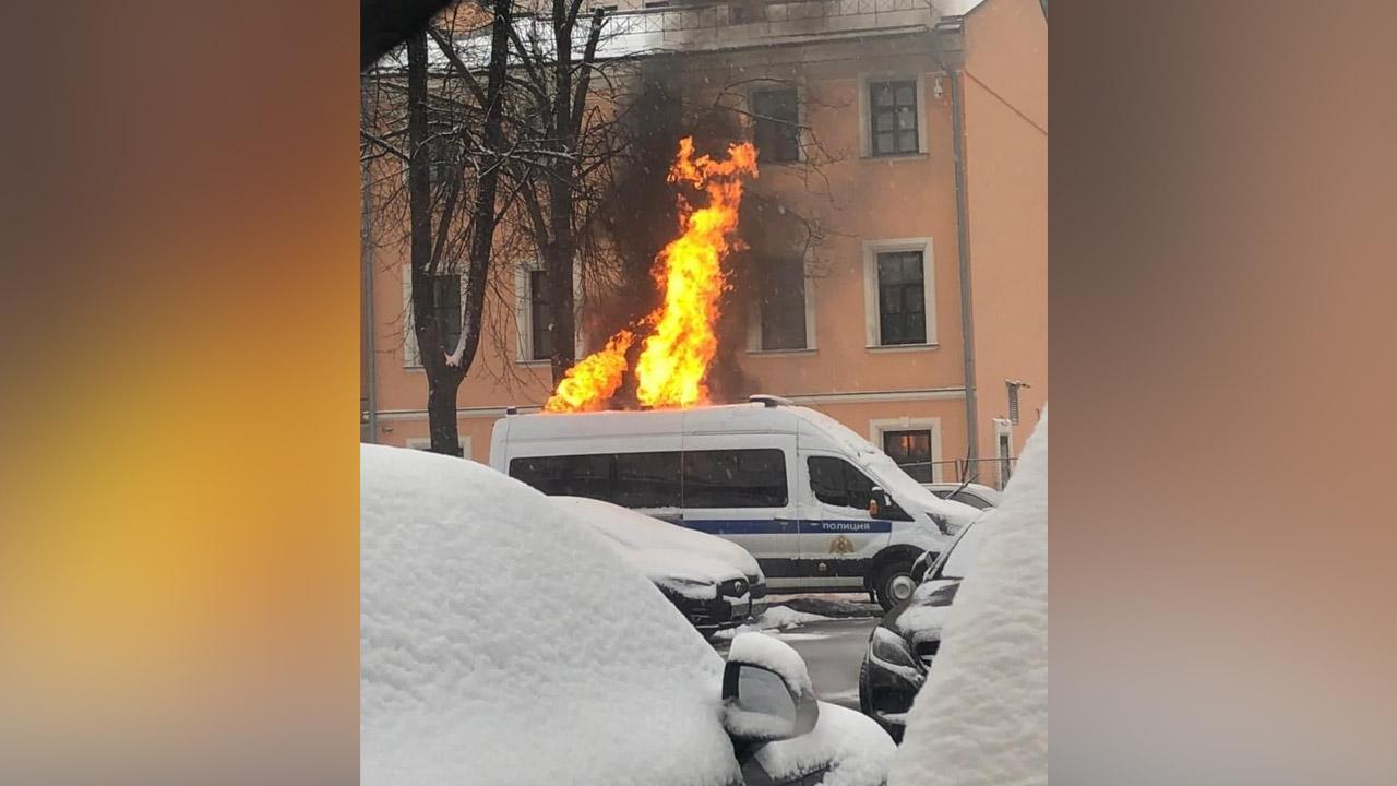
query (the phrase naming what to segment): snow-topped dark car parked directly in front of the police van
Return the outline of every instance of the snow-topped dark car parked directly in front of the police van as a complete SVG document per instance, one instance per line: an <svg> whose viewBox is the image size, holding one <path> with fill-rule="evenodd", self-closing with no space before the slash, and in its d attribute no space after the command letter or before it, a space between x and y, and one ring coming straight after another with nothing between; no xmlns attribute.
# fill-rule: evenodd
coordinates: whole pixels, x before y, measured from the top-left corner
<svg viewBox="0 0 1397 786"><path fill-rule="evenodd" d="M703 634L767 610L767 578L746 548L585 496L553 496L612 544Z"/></svg>

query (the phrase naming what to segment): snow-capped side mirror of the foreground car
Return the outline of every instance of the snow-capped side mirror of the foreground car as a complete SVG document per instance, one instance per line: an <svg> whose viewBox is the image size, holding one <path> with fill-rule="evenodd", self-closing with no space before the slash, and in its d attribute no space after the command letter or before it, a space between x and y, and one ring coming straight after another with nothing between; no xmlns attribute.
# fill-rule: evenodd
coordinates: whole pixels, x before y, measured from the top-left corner
<svg viewBox="0 0 1397 786"><path fill-rule="evenodd" d="M766 634L739 634L722 671L724 729L743 743L789 740L814 729L820 705L805 660Z"/></svg>

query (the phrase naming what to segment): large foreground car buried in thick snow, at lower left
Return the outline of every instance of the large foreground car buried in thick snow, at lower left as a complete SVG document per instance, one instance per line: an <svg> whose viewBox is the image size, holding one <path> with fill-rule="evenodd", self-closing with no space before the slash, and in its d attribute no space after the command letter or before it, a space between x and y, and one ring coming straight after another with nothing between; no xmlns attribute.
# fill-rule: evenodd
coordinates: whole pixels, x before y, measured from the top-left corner
<svg viewBox="0 0 1397 786"><path fill-rule="evenodd" d="M726 664L644 575L482 464L360 449L366 786L883 783L893 740L761 634ZM541 580L548 592L541 592Z"/></svg>

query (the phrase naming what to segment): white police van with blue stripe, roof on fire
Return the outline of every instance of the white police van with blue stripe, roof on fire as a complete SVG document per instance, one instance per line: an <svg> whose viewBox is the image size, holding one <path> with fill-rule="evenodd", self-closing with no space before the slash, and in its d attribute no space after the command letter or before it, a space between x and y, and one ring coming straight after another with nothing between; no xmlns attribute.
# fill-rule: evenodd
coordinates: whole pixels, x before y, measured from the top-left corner
<svg viewBox="0 0 1397 786"><path fill-rule="evenodd" d="M692 410L510 414L490 466L550 495L591 496L728 538L773 590L907 599L912 561L979 510L939 499L834 418L753 396Z"/></svg>

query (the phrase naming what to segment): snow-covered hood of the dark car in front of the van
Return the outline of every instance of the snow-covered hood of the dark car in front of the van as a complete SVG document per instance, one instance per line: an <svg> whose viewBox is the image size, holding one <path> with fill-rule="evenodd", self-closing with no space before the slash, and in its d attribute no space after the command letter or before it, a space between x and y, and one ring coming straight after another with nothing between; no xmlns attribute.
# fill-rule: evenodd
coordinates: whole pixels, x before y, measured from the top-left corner
<svg viewBox="0 0 1397 786"><path fill-rule="evenodd" d="M608 538L631 550L672 551L703 557L711 562L731 565L743 576L757 576L761 569L752 554L740 545L717 536L694 531L654 516L585 496L552 496L578 519Z"/></svg>

